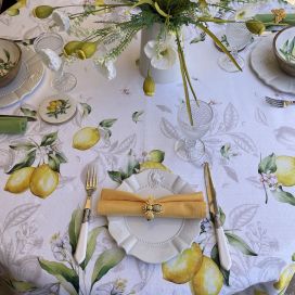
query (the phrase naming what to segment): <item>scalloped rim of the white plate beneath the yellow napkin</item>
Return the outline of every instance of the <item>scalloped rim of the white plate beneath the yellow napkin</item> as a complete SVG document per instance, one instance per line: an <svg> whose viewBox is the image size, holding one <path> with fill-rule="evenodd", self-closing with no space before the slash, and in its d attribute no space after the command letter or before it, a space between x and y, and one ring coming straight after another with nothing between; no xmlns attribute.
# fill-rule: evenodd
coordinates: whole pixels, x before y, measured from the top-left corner
<svg viewBox="0 0 295 295"><path fill-rule="evenodd" d="M150 174L161 174L162 176L164 176L165 178L174 178L172 183L177 183L180 182L181 183L181 190L178 190L177 193L181 193L181 192L195 192L195 190L191 187L190 183L188 183L187 181L184 181L180 176L168 172L168 171L164 171L161 169L146 169L140 174L137 175L132 175L131 177L129 177L128 179L125 179L123 181L123 183L117 188L117 190L126 190L124 183L128 183L130 181L138 181L137 178L148 178ZM127 184L127 187L129 185L129 183ZM130 187L130 185L129 185ZM129 192L132 192L132 190L129 190ZM136 191L133 191L136 192ZM171 190L172 193L175 193ZM116 241L117 245L123 247L126 253L128 255L134 256L137 258L139 258L140 260L144 261L144 262L149 262L149 264L162 264L164 261L167 261L171 258L174 258L175 256L177 256L178 254L180 254L183 249L188 248L191 246L191 243L196 239L196 236L200 234L200 223L201 223L201 219L184 219L182 218L182 225L181 228L179 229L179 232L177 232L174 236L169 238L168 240L165 240L164 242L155 242L155 243L144 243L141 241L138 241L137 238L134 236L134 234L132 234L128 227L126 226L126 217L124 216L106 216L107 221L108 221L108 232L114 238L114 240ZM139 217L142 218L142 217ZM124 221L124 222L123 222ZM116 222L120 222L120 231L117 230L117 226L115 225ZM188 231L188 229L190 229L190 231ZM123 232L124 231L124 232ZM127 232L127 233L126 233ZM183 232L185 232L185 239L183 239L183 236L181 236L181 232L183 235ZM121 240L121 236L125 234L125 239ZM127 234L127 238L126 238ZM129 235L128 235L129 234ZM188 240L188 235L189 234L189 241L184 241ZM127 240L127 243L126 243ZM129 243L129 244L128 244ZM132 244L133 243L133 244ZM163 245L169 245L170 244L170 248L167 249L167 254L163 253L163 249L161 248L161 246L163 247ZM131 245L131 246L130 246ZM148 247L148 249L145 252L141 252L141 247L142 245L145 245L145 247ZM149 249L153 249L153 257L150 256ZM162 251L161 255L159 254L155 254L156 251Z"/></svg>

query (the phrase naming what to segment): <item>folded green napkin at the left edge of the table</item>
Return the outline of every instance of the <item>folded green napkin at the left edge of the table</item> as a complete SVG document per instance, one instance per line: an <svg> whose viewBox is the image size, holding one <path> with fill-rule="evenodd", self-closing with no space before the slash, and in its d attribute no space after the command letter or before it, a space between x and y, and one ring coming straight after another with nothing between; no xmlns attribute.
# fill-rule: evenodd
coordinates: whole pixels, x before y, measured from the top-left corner
<svg viewBox="0 0 295 295"><path fill-rule="evenodd" d="M24 133L27 128L27 117L0 115L0 133Z"/></svg>

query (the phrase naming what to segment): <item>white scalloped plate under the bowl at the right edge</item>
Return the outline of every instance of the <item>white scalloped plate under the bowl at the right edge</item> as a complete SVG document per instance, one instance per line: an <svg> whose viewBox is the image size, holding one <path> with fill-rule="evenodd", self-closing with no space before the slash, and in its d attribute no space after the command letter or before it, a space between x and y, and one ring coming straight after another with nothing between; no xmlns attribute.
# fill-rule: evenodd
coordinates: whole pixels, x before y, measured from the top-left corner
<svg viewBox="0 0 295 295"><path fill-rule="evenodd" d="M295 93L294 77L286 75L275 60L272 50L274 34L261 38L251 53L251 66L257 76L273 89Z"/></svg>

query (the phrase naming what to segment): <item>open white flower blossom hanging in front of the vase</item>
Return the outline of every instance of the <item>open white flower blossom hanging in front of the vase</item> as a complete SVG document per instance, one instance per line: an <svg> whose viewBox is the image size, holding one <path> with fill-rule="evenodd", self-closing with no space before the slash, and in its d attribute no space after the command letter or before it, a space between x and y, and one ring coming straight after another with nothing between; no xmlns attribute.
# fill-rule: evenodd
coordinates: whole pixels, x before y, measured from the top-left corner
<svg viewBox="0 0 295 295"><path fill-rule="evenodd" d="M144 52L151 59L151 65L158 69L168 69L177 61L176 42L171 37L163 41L149 41L144 47Z"/></svg>

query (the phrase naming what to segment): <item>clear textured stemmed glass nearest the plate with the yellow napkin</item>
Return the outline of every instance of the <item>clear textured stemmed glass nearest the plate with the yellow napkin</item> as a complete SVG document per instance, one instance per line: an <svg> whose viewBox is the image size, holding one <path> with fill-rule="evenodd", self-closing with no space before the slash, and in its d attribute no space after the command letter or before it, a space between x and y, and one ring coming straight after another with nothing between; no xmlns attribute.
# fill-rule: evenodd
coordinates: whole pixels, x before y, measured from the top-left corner
<svg viewBox="0 0 295 295"><path fill-rule="evenodd" d="M183 102L178 110L177 119L185 138L177 140L175 152L184 161L200 162L205 155L205 145L201 138L209 130L214 113L210 105L204 101L198 100L198 105L195 101L190 103L193 126L190 124L187 104Z"/></svg>

